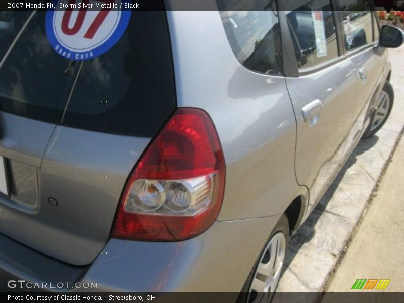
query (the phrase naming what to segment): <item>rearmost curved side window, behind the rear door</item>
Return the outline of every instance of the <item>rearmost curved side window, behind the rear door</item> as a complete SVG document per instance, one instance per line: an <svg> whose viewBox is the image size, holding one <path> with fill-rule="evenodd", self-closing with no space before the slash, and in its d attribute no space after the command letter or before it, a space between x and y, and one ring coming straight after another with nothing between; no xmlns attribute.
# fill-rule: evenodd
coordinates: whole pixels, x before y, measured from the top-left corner
<svg viewBox="0 0 404 303"><path fill-rule="evenodd" d="M269 3L269 4L268 4ZM238 61L264 74L283 75L282 44L275 1L258 0L260 11L239 9L236 0L218 0L223 26Z"/></svg>

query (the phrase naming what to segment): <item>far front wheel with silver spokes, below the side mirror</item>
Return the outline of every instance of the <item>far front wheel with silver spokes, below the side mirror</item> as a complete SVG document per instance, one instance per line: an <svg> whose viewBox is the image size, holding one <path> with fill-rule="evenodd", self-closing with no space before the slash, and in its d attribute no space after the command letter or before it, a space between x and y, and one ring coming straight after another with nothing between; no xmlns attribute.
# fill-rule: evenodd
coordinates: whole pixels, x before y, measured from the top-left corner
<svg viewBox="0 0 404 303"><path fill-rule="evenodd" d="M390 116L394 104L394 89L390 82L386 81L384 84L377 102L377 108L372 113L369 126L362 136L363 139L370 138L376 134Z"/></svg>

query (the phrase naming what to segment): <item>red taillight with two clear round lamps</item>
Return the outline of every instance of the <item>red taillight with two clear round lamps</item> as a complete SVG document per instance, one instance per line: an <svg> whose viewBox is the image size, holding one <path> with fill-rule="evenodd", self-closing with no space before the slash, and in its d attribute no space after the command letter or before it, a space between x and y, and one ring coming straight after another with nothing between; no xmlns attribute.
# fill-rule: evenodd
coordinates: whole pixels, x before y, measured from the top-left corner
<svg viewBox="0 0 404 303"><path fill-rule="evenodd" d="M199 109L177 109L130 175L112 236L194 237L217 218L224 181L223 151L211 119Z"/></svg>

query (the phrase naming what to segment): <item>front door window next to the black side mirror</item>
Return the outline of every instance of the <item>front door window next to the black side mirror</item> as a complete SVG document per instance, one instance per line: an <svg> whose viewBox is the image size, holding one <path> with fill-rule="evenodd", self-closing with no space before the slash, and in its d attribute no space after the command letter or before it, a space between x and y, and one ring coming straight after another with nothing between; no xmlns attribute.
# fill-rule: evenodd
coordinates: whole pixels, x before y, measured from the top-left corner
<svg viewBox="0 0 404 303"><path fill-rule="evenodd" d="M368 0L339 0L345 49L351 51L373 42L372 12Z"/></svg>

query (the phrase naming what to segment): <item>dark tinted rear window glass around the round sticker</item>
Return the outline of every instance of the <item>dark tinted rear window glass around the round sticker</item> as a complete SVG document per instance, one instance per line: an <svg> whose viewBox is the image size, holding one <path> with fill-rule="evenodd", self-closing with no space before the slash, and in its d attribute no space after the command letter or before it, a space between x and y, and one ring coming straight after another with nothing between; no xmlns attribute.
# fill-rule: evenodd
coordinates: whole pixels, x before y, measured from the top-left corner
<svg viewBox="0 0 404 303"><path fill-rule="evenodd" d="M131 12L119 40L84 61L57 54L45 23L46 12L0 14L0 110L153 137L176 106L165 13Z"/></svg>

